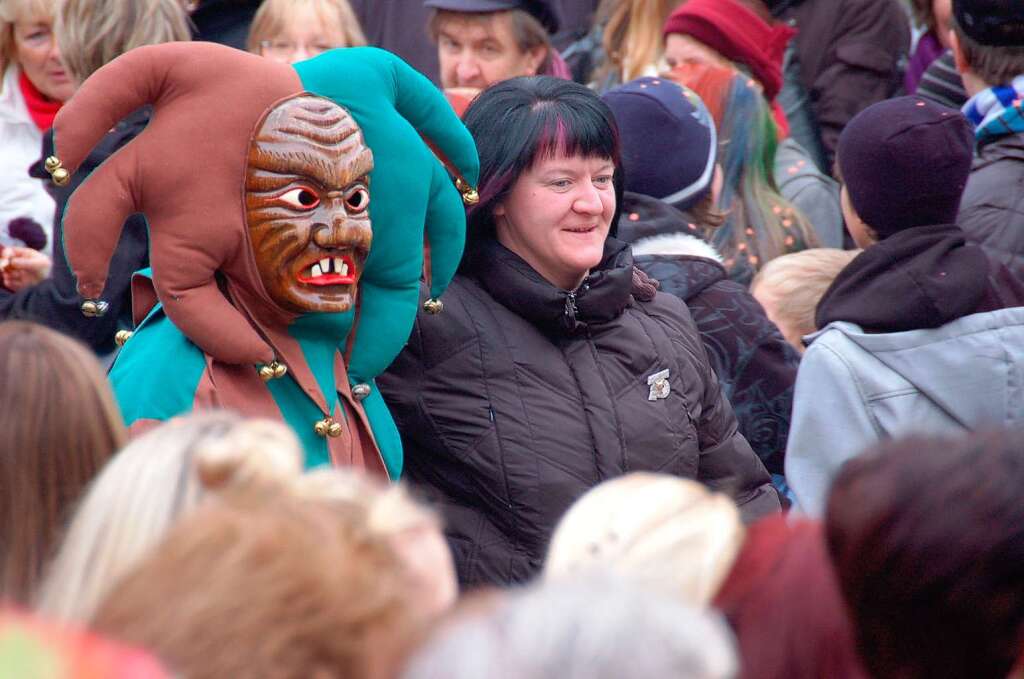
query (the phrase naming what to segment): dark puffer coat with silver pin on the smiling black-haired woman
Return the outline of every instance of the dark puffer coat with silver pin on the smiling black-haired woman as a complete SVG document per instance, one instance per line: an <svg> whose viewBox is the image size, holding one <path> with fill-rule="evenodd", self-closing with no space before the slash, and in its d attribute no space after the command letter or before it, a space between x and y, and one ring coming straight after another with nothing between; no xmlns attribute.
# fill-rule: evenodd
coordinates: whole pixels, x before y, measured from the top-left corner
<svg viewBox="0 0 1024 679"><path fill-rule="evenodd" d="M569 505L629 471L700 479L746 519L778 510L685 304L642 301L634 274L609 239L567 293L485 244L379 379L408 478L440 496L462 583L528 580Z"/></svg>

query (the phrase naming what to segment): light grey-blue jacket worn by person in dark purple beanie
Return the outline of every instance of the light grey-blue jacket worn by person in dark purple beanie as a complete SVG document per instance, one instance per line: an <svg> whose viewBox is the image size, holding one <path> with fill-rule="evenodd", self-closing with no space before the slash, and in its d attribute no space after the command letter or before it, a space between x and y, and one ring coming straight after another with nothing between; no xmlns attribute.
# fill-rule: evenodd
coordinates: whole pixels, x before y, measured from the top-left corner
<svg viewBox="0 0 1024 679"><path fill-rule="evenodd" d="M1024 307L902 333L837 322L810 337L785 449L807 514L823 513L844 462L884 438L1024 424Z"/></svg>

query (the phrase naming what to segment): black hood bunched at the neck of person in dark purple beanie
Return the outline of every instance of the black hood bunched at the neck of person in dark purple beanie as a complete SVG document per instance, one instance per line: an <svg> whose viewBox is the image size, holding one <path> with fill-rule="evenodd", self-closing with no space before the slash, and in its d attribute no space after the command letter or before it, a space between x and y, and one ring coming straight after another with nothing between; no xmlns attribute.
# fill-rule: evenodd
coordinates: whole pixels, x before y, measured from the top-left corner
<svg viewBox="0 0 1024 679"><path fill-rule="evenodd" d="M854 323L868 332L938 328L981 310L989 262L955 224L899 231L857 255L818 303L815 323Z"/></svg>

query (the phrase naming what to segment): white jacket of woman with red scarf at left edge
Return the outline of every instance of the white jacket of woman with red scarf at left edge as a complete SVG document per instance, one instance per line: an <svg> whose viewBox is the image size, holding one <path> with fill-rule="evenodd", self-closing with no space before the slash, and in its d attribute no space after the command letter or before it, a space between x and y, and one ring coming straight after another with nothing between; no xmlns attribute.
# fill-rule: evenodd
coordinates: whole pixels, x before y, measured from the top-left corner
<svg viewBox="0 0 1024 679"><path fill-rule="evenodd" d="M10 66L0 85L0 245L23 245L10 239L7 223L31 217L46 231L45 252L50 254L56 206L43 180L29 176L29 166L42 154L43 133L29 116L17 77L17 67Z"/></svg>

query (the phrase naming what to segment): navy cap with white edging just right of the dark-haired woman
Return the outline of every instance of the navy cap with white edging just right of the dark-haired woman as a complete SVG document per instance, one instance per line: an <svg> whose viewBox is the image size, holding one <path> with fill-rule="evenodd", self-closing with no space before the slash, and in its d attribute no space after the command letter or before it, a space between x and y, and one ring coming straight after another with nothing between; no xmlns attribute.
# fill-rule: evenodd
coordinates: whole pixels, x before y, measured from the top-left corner
<svg viewBox="0 0 1024 679"><path fill-rule="evenodd" d="M640 78L601 99L618 124L626 190L680 210L711 190L717 139L700 97L670 80Z"/></svg>

